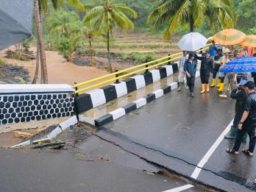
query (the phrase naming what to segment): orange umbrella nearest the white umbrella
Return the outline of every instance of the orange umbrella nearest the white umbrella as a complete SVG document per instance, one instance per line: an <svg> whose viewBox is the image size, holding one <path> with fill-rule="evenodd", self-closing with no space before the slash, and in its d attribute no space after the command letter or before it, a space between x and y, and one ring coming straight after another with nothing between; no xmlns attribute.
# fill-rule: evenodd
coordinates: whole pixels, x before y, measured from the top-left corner
<svg viewBox="0 0 256 192"><path fill-rule="evenodd" d="M241 43L246 38L246 35L237 29L224 29L216 35L213 35L213 40L224 46L232 46Z"/></svg>

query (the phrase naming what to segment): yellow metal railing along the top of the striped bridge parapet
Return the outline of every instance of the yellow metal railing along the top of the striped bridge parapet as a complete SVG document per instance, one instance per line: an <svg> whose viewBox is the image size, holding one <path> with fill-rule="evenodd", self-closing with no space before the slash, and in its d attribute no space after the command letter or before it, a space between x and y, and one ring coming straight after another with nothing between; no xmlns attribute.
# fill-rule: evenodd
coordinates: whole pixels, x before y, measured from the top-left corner
<svg viewBox="0 0 256 192"><path fill-rule="evenodd" d="M210 40L210 38L208 38L208 39ZM199 50L197 50L197 51L204 51L204 50L208 49L209 46L210 46L210 44L211 44L211 43L207 44L207 45L205 46L205 48L199 49ZM148 69L155 68L155 67L157 67L157 66L159 66L159 65L163 65L163 64L165 64L165 63L170 63L171 61L174 61L174 60L179 60L179 57L177 57L177 56L180 56L181 54L182 54L182 52L179 52L179 53L177 53L177 54L168 55L167 57L163 57L163 58L160 58L160 59L157 59L157 60L153 60L153 61L150 61L150 62L147 62L147 63L143 63L143 64L141 64L141 65L136 65L136 66L134 66L134 67L132 67L132 68L127 68L127 69L124 69L124 70L121 70L121 71L116 71L116 72L114 72L114 73L112 73L112 74L107 74L107 75L104 75L104 76L102 76L102 77L98 77L98 78L95 78L95 79L90 79L90 80L88 80L88 81L86 81L86 82L78 83L78 84L76 84L76 85L73 86L73 87L76 89L74 93L76 93L76 94L77 94L77 93L81 93L81 92L84 92L85 90L90 90L90 89L99 87L100 85L104 85L104 84L107 84L107 83L109 83L109 82L114 82L115 80L124 79L125 77L132 76L132 74L138 74L138 73L141 72L141 71L146 71L146 70L148 70ZM168 60L166 60L166 59L168 59ZM162 61L162 60L163 60L163 61ZM159 61L162 61L162 62L158 63ZM148 65L150 65L150 64L152 64L152 63L156 63L156 64L151 65L151 66L148 66ZM145 68L141 68L141 67L144 67L144 66L146 66L146 67L145 67ZM141 69L138 69L138 70L136 70L136 71L133 71L133 70L135 70L135 69L137 69L137 68L141 68ZM130 72L130 71L131 71L131 72ZM128 73L128 74L121 75L121 76L118 76L119 74L123 74L123 73L125 73L125 72L129 72L129 73ZM112 79L107 79L107 78L113 77L113 76L114 76L114 78L112 78ZM88 86L88 87L86 87L86 88L82 88L82 89L79 89L79 90L77 89L77 88L79 88L79 87L81 87L81 86L83 86L83 85L88 85L88 84L90 84L90 83L97 82L97 81L100 81L100 80L102 80L102 79L107 79L107 80L104 80L103 82L99 82L99 83L90 85L90 86Z"/></svg>

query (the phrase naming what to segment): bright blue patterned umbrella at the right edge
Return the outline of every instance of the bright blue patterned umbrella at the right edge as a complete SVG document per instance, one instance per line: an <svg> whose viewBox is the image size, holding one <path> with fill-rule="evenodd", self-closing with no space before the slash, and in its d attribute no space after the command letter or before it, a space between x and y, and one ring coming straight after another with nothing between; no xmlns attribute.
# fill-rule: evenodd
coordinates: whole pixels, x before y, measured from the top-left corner
<svg viewBox="0 0 256 192"><path fill-rule="evenodd" d="M256 72L256 57L236 57L220 70L225 73Z"/></svg>

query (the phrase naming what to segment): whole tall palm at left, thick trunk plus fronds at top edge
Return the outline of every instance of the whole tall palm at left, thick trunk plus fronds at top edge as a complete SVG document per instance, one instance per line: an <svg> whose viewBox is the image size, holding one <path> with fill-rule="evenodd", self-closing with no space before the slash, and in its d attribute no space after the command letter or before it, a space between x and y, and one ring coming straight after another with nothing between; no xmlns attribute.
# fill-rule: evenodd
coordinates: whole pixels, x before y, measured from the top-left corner
<svg viewBox="0 0 256 192"><path fill-rule="evenodd" d="M79 0L68 0L68 2L71 5L74 5L74 7L77 7L78 10L84 11L85 6L79 1ZM60 8L65 4L65 0L51 0L51 3L55 10ZM41 15L40 11L41 9L43 11L49 10L49 5L47 0L34 0L34 12L35 12L35 20L36 20L36 26L37 26L37 32L38 32L38 48L40 52L40 65L41 65L41 83L48 83L48 75L47 75L47 67L46 67L46 54L44 49L44 41L43 41L43 30L42 30L42 24L41 24ZM35 77L37 77L37 72L35 73ZM35 79L35 78L34 78ZM34 81L33 81L34 82Z"/></svg>

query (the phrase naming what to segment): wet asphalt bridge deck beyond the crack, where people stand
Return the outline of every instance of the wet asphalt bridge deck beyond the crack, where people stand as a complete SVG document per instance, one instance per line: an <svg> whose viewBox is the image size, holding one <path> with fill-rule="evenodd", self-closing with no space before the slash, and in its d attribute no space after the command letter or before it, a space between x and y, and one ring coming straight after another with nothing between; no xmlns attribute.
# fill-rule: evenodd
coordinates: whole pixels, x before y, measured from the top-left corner
<svg viewBox="0 0 256 192"><path fill-rule="evenodd" d="M105 125L95 137L216 189L255 190L256 185L252 183L256 178L255 157L225 151L234 142L225 140L224 135L235 114L235 101L219 98L215 88L211 88L210 93L201 94L200 87L197 78L194 98L188 96L188 90L181 93L174 90ZM79 148L107 155L107 149L95 149L91 143L88 141ZM242 144L241 149L248 149L248 143ZM118 159L118 153L115 155ZM143 167L140 163L129 163L129 160L120 162Z"/></svg>

